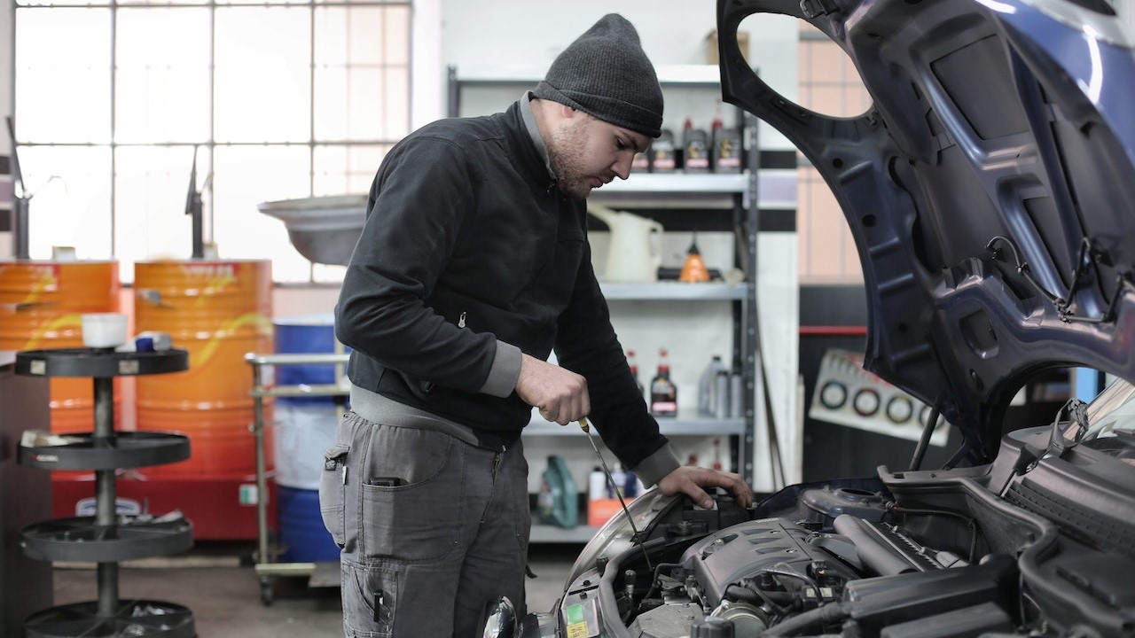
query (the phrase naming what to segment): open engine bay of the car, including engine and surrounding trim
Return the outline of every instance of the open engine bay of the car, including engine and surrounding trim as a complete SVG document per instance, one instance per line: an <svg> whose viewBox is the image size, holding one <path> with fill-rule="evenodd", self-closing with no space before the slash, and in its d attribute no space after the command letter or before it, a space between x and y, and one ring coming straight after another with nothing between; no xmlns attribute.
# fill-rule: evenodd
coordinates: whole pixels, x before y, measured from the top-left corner
<svg viewBox="0 0 1135 638"><path fill-rule="evenodd" d="M1044 437L1007 437L992 465L880 468L751 509L724 494L712 510L661 502L644 543L616 544L569 585L564 635L1129 636L1130 539L1040 502L1075 461L1036 463Z"/></svg>

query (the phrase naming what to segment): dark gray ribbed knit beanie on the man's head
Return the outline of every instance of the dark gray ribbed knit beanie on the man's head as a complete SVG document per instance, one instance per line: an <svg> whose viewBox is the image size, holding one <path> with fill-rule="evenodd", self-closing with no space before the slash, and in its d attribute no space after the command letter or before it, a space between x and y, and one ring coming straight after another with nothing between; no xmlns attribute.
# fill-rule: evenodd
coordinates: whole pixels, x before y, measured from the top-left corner
<svg viewBox="0 0 1135 638"><path fill-rule="evenodd" d="M604 121L658 137L662 89L634 25L607 14L563 50L532 92Z"/></svg>

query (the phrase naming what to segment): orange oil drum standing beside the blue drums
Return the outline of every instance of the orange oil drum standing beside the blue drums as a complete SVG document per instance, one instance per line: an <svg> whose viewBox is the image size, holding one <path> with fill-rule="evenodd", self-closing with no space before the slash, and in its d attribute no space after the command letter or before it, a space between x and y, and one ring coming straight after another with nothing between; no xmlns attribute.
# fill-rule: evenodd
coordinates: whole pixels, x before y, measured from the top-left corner
<svg viewBox="0 0 1135 638"><path fill-rule="evenodd" d="M170 335L190 369L136 379L138 430L180 431L190 459L142 469L151 478L232 478L255 473L252 367L245 353L272 352L271 262L137 262L137 331ZM272 469L271 405L266 401L266 469Z"/></svg>

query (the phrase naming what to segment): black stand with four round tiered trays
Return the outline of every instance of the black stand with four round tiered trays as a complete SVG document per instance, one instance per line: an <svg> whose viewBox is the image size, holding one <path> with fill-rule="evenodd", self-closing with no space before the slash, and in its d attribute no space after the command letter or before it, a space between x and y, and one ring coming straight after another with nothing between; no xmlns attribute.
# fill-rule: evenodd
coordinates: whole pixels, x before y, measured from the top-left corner
<svg viewBox="0 0 1135 638"><path fill-rule="evenodd" d="M193 613L160 601L118 597L118 562L184 552L193 546L193 524L180 512L152 515L117 511L115 470L175 463L190 457L190 439L174 433L115 431L114 378L188 369L184 350L115 352L59 349L16 354L16 373L33 377L91 377L94 431L25 433L18 462L44 470L94 470L93 517L56 519L22 530L24 553L41 561L98 563L98 601L35 612L24 621L27 638L62 636L166 636L195 638Z"/></svg>

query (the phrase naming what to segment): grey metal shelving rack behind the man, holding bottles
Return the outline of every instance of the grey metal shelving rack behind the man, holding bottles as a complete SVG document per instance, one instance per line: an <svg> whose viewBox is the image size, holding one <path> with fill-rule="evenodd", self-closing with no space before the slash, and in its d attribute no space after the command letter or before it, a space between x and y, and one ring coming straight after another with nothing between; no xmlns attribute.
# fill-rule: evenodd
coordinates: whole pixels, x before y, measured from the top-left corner
<svg viewBox="0 0 1135 638"><path fill-rule="evenodd" d="M659 65L656 68L658 82L665 92L667 87L690 87L715 90L720 95L720 69L713 65ZM528 68L462 68L448 69L448 116L462 115L462 91L471 86L481 89L513 90L531 87L543 77L543 73ZM742 413L740 419L716 419L680 413L676 419L659 420L662 433L672 435L713 436L726 435L734 440L733 452L737 467L750 484L754 481L754 465L750 451L754 448L756 421L756 393L760 387L760 352L757 339L757 228L759 228L759 178L760 150L757 137L757 120L738 109L739 126L745 134L743 173L731 174L634 174L632 179L613 181L596 191L589 199L607 205L629 208L655 207L658 209L699 209L712 215L729 216L729 224L741 238L738 241L737 266L746 272L745 282L728 284L678 284L659 282L653 284L600 284L608 301L689 301L732 303L733 355L741 362ZM570 428L547 423L533 418L526 428L526 436L558 436ZM575 433L572 431L572 435ZM586 542L597 528L580 526L560 529L548 526L532 526L532 543Z"/></svg>

